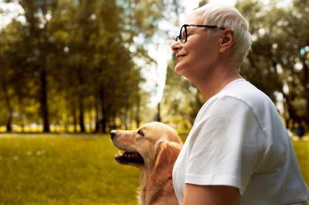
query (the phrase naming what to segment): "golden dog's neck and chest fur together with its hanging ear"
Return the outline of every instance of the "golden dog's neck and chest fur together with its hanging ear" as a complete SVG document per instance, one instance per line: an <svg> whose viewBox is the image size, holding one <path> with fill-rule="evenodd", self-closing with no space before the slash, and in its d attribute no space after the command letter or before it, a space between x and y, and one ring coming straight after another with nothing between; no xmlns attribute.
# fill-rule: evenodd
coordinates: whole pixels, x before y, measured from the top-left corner
<svg viewBox="0 0 309 205"><path fill-rule="evenodd" d="M155 160L145 157L140 177L140 205L179 205L173 187L172 173L181 149L180 144L161 141L154 152Z"/></svg>

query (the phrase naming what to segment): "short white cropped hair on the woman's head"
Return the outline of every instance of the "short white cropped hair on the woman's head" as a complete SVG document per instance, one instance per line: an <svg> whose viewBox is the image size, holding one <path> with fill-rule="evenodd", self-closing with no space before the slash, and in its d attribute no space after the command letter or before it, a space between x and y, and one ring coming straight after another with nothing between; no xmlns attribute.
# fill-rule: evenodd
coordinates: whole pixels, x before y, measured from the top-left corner
<svg viewBox="0 0 309 205"><path fill-rule="evenodd" d="M249 51L251 51L249 20L243 17L232 5L218 3L207 3L195 9L191 15L200 16L204 25L223 27L234 32L235 40L231 48L231 59L239 68ZM219 31L219 29L209 29L211 37L215 36Z"/></svg>

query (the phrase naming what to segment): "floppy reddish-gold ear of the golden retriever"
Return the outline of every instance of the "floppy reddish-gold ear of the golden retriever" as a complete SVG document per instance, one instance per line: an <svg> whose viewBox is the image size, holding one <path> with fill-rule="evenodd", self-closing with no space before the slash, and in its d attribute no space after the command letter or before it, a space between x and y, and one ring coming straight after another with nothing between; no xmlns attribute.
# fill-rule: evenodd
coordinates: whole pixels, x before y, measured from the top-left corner
<svg viewBox="0 0 309 205"><path fill-rule="evenodd" d="M174 142L158 142L156 145L156 160L154 165L154 180L161 184L172 176L175 161L181 146Z"/></svg>

